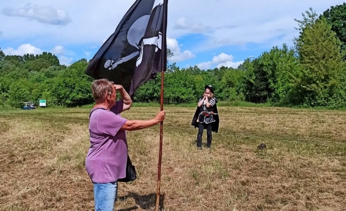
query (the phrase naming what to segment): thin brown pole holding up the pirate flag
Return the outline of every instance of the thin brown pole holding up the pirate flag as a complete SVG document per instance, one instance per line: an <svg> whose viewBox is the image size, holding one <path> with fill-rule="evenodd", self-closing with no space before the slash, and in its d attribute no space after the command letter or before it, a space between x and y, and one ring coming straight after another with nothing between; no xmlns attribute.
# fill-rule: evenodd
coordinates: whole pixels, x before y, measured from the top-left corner
<svg viewBox="0 0 346 211"><path fill-rule="evenodd" d="M164 18L162 19L164 27L162 30L160 111L164 110L164 72L167 69L167 41L166 41L167 10L168 10L168 0L165 0L164 1ZM162 121L160 123L160 144L159 144L158 166L157 166L156 211L158 211L159 204L160 204L161 160L162 160L163 133L164 133L164 122Z"/></svg>

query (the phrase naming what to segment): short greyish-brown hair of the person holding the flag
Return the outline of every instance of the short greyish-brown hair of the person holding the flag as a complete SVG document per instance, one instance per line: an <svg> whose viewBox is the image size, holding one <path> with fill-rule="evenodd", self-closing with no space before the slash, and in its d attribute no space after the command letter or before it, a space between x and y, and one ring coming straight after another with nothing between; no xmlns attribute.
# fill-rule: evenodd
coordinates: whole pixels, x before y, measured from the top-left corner
<svg viewBox="0 0 346 211"><path fill-rule="evenodd" d="M114 85L113 81L108 79L98 79L94 80L91 85L92 96L96 102L103 102L106 97L106 93L112 93L112 86Z"/></svg>

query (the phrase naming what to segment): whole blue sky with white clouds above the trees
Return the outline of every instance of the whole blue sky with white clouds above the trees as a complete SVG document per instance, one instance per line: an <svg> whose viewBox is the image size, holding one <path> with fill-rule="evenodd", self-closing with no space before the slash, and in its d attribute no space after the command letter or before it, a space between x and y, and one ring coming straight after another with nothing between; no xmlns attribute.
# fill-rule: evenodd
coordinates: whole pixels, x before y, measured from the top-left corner
<svg viewBox="0 0 346 211"><path fill-rule="evenodd" d="M69 65L91 59L134 0L0 0L0 48L7 55L54 53ZM169 0L167 45L180 68L236 68L273 46L293 46L294 18L339 0Z"/></svg>

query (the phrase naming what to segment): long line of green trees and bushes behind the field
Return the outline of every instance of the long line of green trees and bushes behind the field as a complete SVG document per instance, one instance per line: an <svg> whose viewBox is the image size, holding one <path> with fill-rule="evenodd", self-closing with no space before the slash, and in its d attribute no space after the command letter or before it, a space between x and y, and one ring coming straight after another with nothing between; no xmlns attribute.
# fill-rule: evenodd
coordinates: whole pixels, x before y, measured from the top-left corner
<svg viewBox="0 0 346 211"><path fill-rule="evenodd" d="M346 4L318 15L312 8L295 19L294 47L273 47L248 58L237 69L200 70L168 64L165 103L196 102L205 85L220 101L270 102L275 106L346 107ZM168 52L168 55L172 55ZM76 107L93 103L87 59L70 66L48 52L5 55L0 49L0 106L20 108L25 101ZM135 102L159 102L161 75L140 86Z"/></svg>

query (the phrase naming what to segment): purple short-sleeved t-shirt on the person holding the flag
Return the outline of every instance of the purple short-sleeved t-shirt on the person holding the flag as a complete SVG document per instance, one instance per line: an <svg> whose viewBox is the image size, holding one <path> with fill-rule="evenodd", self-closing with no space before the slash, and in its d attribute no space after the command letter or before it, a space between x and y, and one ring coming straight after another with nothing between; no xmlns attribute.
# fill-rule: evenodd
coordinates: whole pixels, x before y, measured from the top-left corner
<svg viewBox="0 0 346 211"><path fill-rule="evenodd" d="M91 181L114 182L126 176L128 146L126 131L120 128L127 119L120 116L123 101L116 101L110 111L93 109L90 116L90 149L86 169Z"/></svg>

